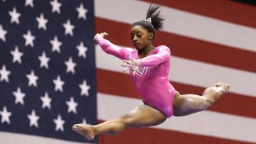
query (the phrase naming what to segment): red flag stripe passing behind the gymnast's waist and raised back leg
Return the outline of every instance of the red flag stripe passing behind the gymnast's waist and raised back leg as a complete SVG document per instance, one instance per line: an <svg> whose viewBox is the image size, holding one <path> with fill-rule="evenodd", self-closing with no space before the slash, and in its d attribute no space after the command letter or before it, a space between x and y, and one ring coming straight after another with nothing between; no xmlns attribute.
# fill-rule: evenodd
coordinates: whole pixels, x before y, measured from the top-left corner
<svg viewBox="0 0 256 144"><path fill-rule="evenodd" d="M181 94L201 95L205 89L203 87L195 87L178 82L172 82L171 84L173 84L176 90L181 92ZM140 99L128 74L99 68L97 68L97 92ZM256 118L256 113L250 111L250 109L256 109L255 104L256 99L251 96L229 93L222 96L209 110Z"/></svg>

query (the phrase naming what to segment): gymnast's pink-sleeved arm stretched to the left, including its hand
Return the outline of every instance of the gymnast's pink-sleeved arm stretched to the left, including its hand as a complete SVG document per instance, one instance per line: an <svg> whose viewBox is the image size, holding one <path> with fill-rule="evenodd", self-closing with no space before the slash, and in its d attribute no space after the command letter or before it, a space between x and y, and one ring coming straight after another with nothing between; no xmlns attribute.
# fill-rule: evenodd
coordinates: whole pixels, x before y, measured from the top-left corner
<svg viewBox="0 0 256 144"><path fill-rule="evenodd" d="M100 34L97 33L94 38L95 42L99 44L102 50L104 50L107 54L114 55L121 60L127 60L127 57L129 57L129 53L132 52L132 50L129 50L129 48L119 48L109 40L104 39L103 37L105 35L108 34L105 32Z"/></svg>

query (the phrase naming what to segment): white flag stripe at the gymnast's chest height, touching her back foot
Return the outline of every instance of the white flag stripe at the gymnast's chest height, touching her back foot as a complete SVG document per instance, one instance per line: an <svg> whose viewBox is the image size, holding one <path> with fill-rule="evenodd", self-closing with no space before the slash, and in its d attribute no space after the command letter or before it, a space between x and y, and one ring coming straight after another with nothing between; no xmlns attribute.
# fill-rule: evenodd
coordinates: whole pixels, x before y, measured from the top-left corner
<svg viewBox="0 0 256 144"><path fill-rule="evenodd" d="M96 67L104 70L122 72L122 61L107 55L96 46ZM169 79L174 82L198 87L215 86L217 82L230 84L230 92L256 97L256 74L195 60L171 56ZM178 89L177 89L178 90Z"/></svg>

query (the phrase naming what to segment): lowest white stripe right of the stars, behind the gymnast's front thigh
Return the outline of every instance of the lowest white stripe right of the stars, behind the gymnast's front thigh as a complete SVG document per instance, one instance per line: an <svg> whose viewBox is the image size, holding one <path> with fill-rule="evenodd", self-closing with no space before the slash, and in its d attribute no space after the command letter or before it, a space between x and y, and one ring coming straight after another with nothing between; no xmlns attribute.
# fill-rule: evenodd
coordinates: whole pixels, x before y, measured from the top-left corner
<svg viewBox="0 0 256 144"><path fill-rule="evenodd" d="M122 116L142 102L108 94L97 94L98 119L107 121ZM190 116L171 117L156 128L256 143L256 119L203 111Z"/></svg>

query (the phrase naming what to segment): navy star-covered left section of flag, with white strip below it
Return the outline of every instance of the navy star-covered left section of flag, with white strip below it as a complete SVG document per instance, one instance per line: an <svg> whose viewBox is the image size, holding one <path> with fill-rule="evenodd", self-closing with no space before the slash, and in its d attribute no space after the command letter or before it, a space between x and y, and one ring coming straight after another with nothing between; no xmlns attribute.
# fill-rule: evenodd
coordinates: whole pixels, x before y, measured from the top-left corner
<svg viewBox="0 0 256 144"><path fill-rule="evenodd" d="M97 143L93 2L0 1L0 143Z"/></svg>

